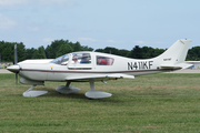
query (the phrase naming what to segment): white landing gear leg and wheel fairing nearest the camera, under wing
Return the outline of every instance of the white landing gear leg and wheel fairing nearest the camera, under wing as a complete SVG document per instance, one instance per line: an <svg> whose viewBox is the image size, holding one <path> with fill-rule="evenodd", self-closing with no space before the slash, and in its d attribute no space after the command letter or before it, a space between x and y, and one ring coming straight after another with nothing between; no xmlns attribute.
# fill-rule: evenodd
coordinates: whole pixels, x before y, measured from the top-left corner
<svg viewBox="0 0 200 133"><path fill-rule="evenodd" d="M110 98L112 95L111 93L96 91L94 90L94 81L93 80L90 80L90 89L91 89L91 91L88 91L84 94L89 99L104 99L104 98Z"/></svg>

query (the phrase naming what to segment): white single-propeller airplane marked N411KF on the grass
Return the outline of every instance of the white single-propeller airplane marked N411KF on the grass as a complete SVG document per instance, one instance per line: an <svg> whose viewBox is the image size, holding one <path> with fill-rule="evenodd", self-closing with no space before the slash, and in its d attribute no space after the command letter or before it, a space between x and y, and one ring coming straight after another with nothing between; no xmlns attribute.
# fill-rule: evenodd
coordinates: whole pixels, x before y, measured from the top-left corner
<svg viewBox="0 0 200 133"><path fill-rule="evenodd" d="M108 53L80 51L59 57L54 60L43 60L44 63L23 61L8 66L7 70L19 74L19 82L32 86L23 92L23 96L40 96L48 91L32 91L37 85L44 85L46 81L67 82L56 88L62 94L80 91L70 86L71 82L89 82L90 91L86 92L89 99L110 98L108 92L94 90L94 82L106 83L108 80L134 79L137 75L176 71L187 69L192 64L184 62L191 40L176 41L167 51L152 59L130 59ZM37 62L37 60L32 61Z"/></svg>

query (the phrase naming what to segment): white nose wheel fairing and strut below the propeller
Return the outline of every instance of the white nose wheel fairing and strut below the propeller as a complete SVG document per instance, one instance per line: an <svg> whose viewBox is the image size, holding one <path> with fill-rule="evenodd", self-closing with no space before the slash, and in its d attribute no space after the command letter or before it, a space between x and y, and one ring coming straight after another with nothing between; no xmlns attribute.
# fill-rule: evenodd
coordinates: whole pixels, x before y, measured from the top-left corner
<svg viewBox="0 0 200 133"><path fill-rule="evenodd" d="M48 91L32 91L32 89L34 89L36 86L37 85L32 85L29 90L23 92L23 96L26 96L26 98L34 98L34 96L40 96L40 95L43 95L43 94L48 93Z"/></svg>

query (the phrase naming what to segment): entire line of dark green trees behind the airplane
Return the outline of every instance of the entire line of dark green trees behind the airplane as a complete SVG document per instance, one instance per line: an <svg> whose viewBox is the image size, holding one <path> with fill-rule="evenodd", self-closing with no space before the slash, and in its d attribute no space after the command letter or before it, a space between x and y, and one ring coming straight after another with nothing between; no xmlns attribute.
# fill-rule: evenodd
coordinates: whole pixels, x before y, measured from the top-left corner
<svg viewBox="0 0 200 133"><path fill-rule="evenodd" d="M47 48L39 47L38 49L26 49L22 42L4 42L0 41L0 61L14 61L14 45L17 44L18 61L27 59L56 59L60 55L77 52L77 51L93 51L93 48L81 45L80 42L70 42L69 40L54 40ZM134 45L132 50L116 49L107 47L104 49L97 49L96 52L110 53L132 59L150 59L163 53L167 49L158 49L151 47ZM200 61L200 47L189 49L187 60Z"/></svg>

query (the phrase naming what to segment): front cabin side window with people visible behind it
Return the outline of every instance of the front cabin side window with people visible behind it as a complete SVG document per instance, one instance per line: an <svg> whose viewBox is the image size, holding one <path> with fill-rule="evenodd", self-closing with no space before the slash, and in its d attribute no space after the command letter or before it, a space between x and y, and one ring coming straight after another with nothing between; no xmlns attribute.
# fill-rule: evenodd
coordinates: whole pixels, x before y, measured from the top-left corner
<svg viewBox="0 0 200 133"><path fill-rule="evenodd" d="M90 53L73 53L72 54L72 63L90 64L91 63Z"/></svg>

